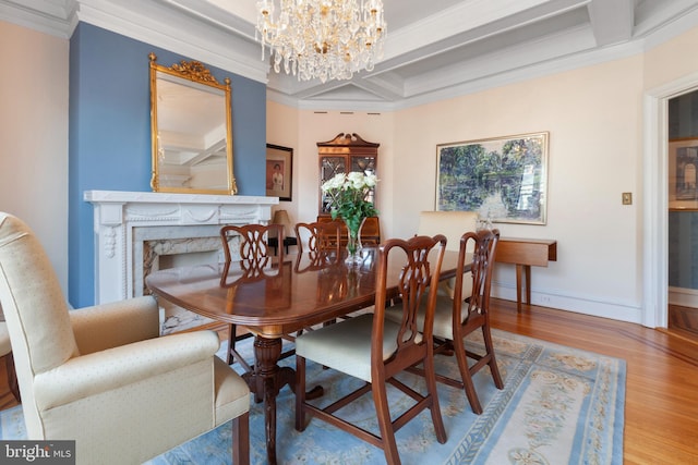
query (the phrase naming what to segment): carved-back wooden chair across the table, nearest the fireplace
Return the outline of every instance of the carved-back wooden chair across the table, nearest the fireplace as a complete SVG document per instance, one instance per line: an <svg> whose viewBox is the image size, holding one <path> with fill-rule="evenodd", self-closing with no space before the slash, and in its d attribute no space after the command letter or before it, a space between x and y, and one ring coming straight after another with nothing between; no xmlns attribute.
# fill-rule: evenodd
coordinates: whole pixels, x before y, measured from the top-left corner
<svg viewBox="0 0 698 465"><path fill-rule="evenodd" d="M262 270L272 260L275 255L272 252L272 247L268 244L268 237L277 237L279 244L284 242L284 225L282 224L244 224L244 225L225 225L220 229L220 238L222 241L222 249L226 255L226 264L230 264L231 260L240 260L240 268L245 271L248 278L252 278L255 272L262 272ZM231 243L238 243L238 254L232 254L230 250ZM279 247L279 262L284 261L284 249ZM221 277L221 280L226 279L226 273ZM236 350L236 342L242 341L248 338L252 338L249 331L242 334L238 334L237 325L229 325L228 334L228 365L231 365L236 358L245 369L245 371L252 371L251 365L242 357Z"/></svg>

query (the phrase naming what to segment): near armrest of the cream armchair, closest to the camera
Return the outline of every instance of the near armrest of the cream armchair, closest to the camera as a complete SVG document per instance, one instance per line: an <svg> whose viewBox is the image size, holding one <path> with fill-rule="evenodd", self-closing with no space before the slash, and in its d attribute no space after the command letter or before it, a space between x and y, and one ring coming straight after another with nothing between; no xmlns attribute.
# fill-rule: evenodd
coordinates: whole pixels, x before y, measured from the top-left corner
<svg viewBox="0 0 698 465"><path fill-rule="evenodd" d="M74 357L34 378L39 409L48 409L210 359L218 334L195 331L149 339Z"/></svg>

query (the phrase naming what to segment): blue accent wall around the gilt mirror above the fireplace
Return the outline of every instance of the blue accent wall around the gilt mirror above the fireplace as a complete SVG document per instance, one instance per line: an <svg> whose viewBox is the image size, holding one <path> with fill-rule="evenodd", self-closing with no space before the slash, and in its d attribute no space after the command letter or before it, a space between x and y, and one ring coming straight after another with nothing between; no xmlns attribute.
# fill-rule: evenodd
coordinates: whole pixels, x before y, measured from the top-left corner
<svg viewBox="0 0 698 465"><path fill-rule="evenodd" d="M83 193L151 191L151 52L166 66L200 60L86 23L70 40L68 287L74 307L95 303L93 206ZM204 64L218 81L231 79L238 194L264 196L266 86Z"/></svg>

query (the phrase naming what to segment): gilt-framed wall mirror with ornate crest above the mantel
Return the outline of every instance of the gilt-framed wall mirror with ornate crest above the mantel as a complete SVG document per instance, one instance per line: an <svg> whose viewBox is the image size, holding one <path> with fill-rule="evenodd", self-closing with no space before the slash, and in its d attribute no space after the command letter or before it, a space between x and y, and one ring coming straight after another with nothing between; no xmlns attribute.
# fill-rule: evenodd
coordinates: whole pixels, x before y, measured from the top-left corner
<svg viewBox="0 0 698 465"><path fill-rule="evenodd" d="M230 79L218 83L197 61L170 68L151 60L154 192L238 193L232 173Z"/></svg>

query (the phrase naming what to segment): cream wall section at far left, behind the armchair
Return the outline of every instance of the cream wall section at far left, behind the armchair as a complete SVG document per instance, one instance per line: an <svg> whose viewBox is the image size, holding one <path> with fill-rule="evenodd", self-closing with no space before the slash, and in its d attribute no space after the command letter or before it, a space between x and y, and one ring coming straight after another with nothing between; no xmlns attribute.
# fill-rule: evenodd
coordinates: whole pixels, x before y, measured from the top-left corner
<svg viewBox="0 0 698 465"><path fill-rule="evenodd" d="M68 291L69 42L0 22L0 211L38 235Z"/></svg>

